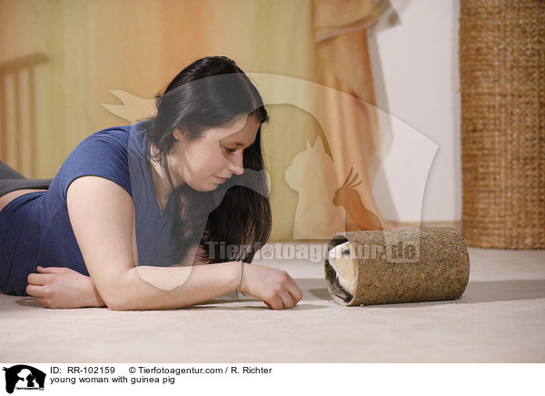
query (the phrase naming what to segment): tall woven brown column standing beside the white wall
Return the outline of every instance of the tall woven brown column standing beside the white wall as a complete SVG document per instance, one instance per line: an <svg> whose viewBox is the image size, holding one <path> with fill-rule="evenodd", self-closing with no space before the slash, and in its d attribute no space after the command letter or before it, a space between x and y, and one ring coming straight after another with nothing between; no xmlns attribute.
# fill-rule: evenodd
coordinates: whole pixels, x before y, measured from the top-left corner
<svg viewBox="0 0 545 396"><path fill-rule="evenodd" d="M545 249L545 1L461 0L461 232Z"/></svg>

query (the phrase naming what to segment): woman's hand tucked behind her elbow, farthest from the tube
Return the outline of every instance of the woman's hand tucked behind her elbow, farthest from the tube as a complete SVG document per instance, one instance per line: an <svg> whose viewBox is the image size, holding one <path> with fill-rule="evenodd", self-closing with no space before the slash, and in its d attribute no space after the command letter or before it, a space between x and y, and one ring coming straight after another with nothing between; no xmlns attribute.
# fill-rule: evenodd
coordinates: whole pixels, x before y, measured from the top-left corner
<svg viewBox="0 0 545 396"><path fill-rule="evenodd" d="M90 276L66 267L40 267L28 275L26 293L46 308L104 307Z"/></svg>

